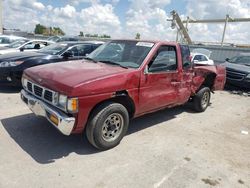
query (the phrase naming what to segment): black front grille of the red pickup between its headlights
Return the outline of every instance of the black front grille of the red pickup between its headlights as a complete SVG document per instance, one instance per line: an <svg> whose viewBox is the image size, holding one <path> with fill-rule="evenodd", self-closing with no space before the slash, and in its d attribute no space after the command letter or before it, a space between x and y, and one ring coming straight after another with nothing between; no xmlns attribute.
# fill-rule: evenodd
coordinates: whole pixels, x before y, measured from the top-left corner
<svg viewBox="0 0 250 188"><path fill-rule="evenodd" d="M49 89L46 89L42 86L39 86L37 84L34 84L32 82L27 83L27 90L37 96L40 99L44 99L45 101L49 103L53 103L53 98L55 95L54 91L51 91Z"/></svg>

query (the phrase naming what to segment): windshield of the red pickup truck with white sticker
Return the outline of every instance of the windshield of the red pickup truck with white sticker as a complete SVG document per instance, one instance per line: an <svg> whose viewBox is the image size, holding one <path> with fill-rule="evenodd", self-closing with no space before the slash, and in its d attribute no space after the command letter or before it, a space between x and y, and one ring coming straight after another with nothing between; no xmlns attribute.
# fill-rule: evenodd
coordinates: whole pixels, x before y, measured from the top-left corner
<svg viewBox="0 0 250 188"><path fill-rule="evenodd" d="M122 67L138 68L153 46L152 42L111 41L97 48L88 58Z"/></svg>

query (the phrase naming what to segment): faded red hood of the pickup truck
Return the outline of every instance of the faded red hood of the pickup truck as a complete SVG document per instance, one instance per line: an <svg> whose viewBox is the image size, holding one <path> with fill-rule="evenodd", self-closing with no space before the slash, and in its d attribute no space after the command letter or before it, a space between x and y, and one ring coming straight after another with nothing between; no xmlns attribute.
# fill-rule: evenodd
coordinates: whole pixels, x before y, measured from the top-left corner
<svg viewBox="0 0 250 188"><path fill-rule="evenodd" d="M68 61L60 64L47 64L25 70L25 75L33 82L68 96L84 96L136 87L135 69L92 61ZM133 76L129 76L129 74ZM133 77L133 79L132 79ZM126 85L127 81L129 86ZM138 80L138 81L134 81ZM126 86L125 86L126 85Z"/></svg>

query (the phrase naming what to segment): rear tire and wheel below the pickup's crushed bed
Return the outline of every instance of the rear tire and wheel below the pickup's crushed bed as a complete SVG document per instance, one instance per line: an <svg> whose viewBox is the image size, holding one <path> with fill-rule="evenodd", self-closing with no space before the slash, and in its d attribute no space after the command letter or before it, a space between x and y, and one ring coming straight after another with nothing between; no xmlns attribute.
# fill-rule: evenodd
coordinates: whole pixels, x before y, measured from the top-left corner
<svg viewBox="0 0 250 188"><path fill-rule="evenodd" d="M211 92L208 87L201 88L193 99L194 110L197 112L204 112L209 106Z"/></svg>

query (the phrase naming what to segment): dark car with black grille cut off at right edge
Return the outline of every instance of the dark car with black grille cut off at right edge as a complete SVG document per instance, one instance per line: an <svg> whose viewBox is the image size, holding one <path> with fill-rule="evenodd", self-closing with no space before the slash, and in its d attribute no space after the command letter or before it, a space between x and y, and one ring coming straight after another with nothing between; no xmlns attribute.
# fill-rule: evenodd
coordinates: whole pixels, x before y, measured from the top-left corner
<svg viewBox="0 0 250 188"><path fill-rule="evenodd" d="M225 62L227 84L250 89L250 54L227 58Z"/></svg>

